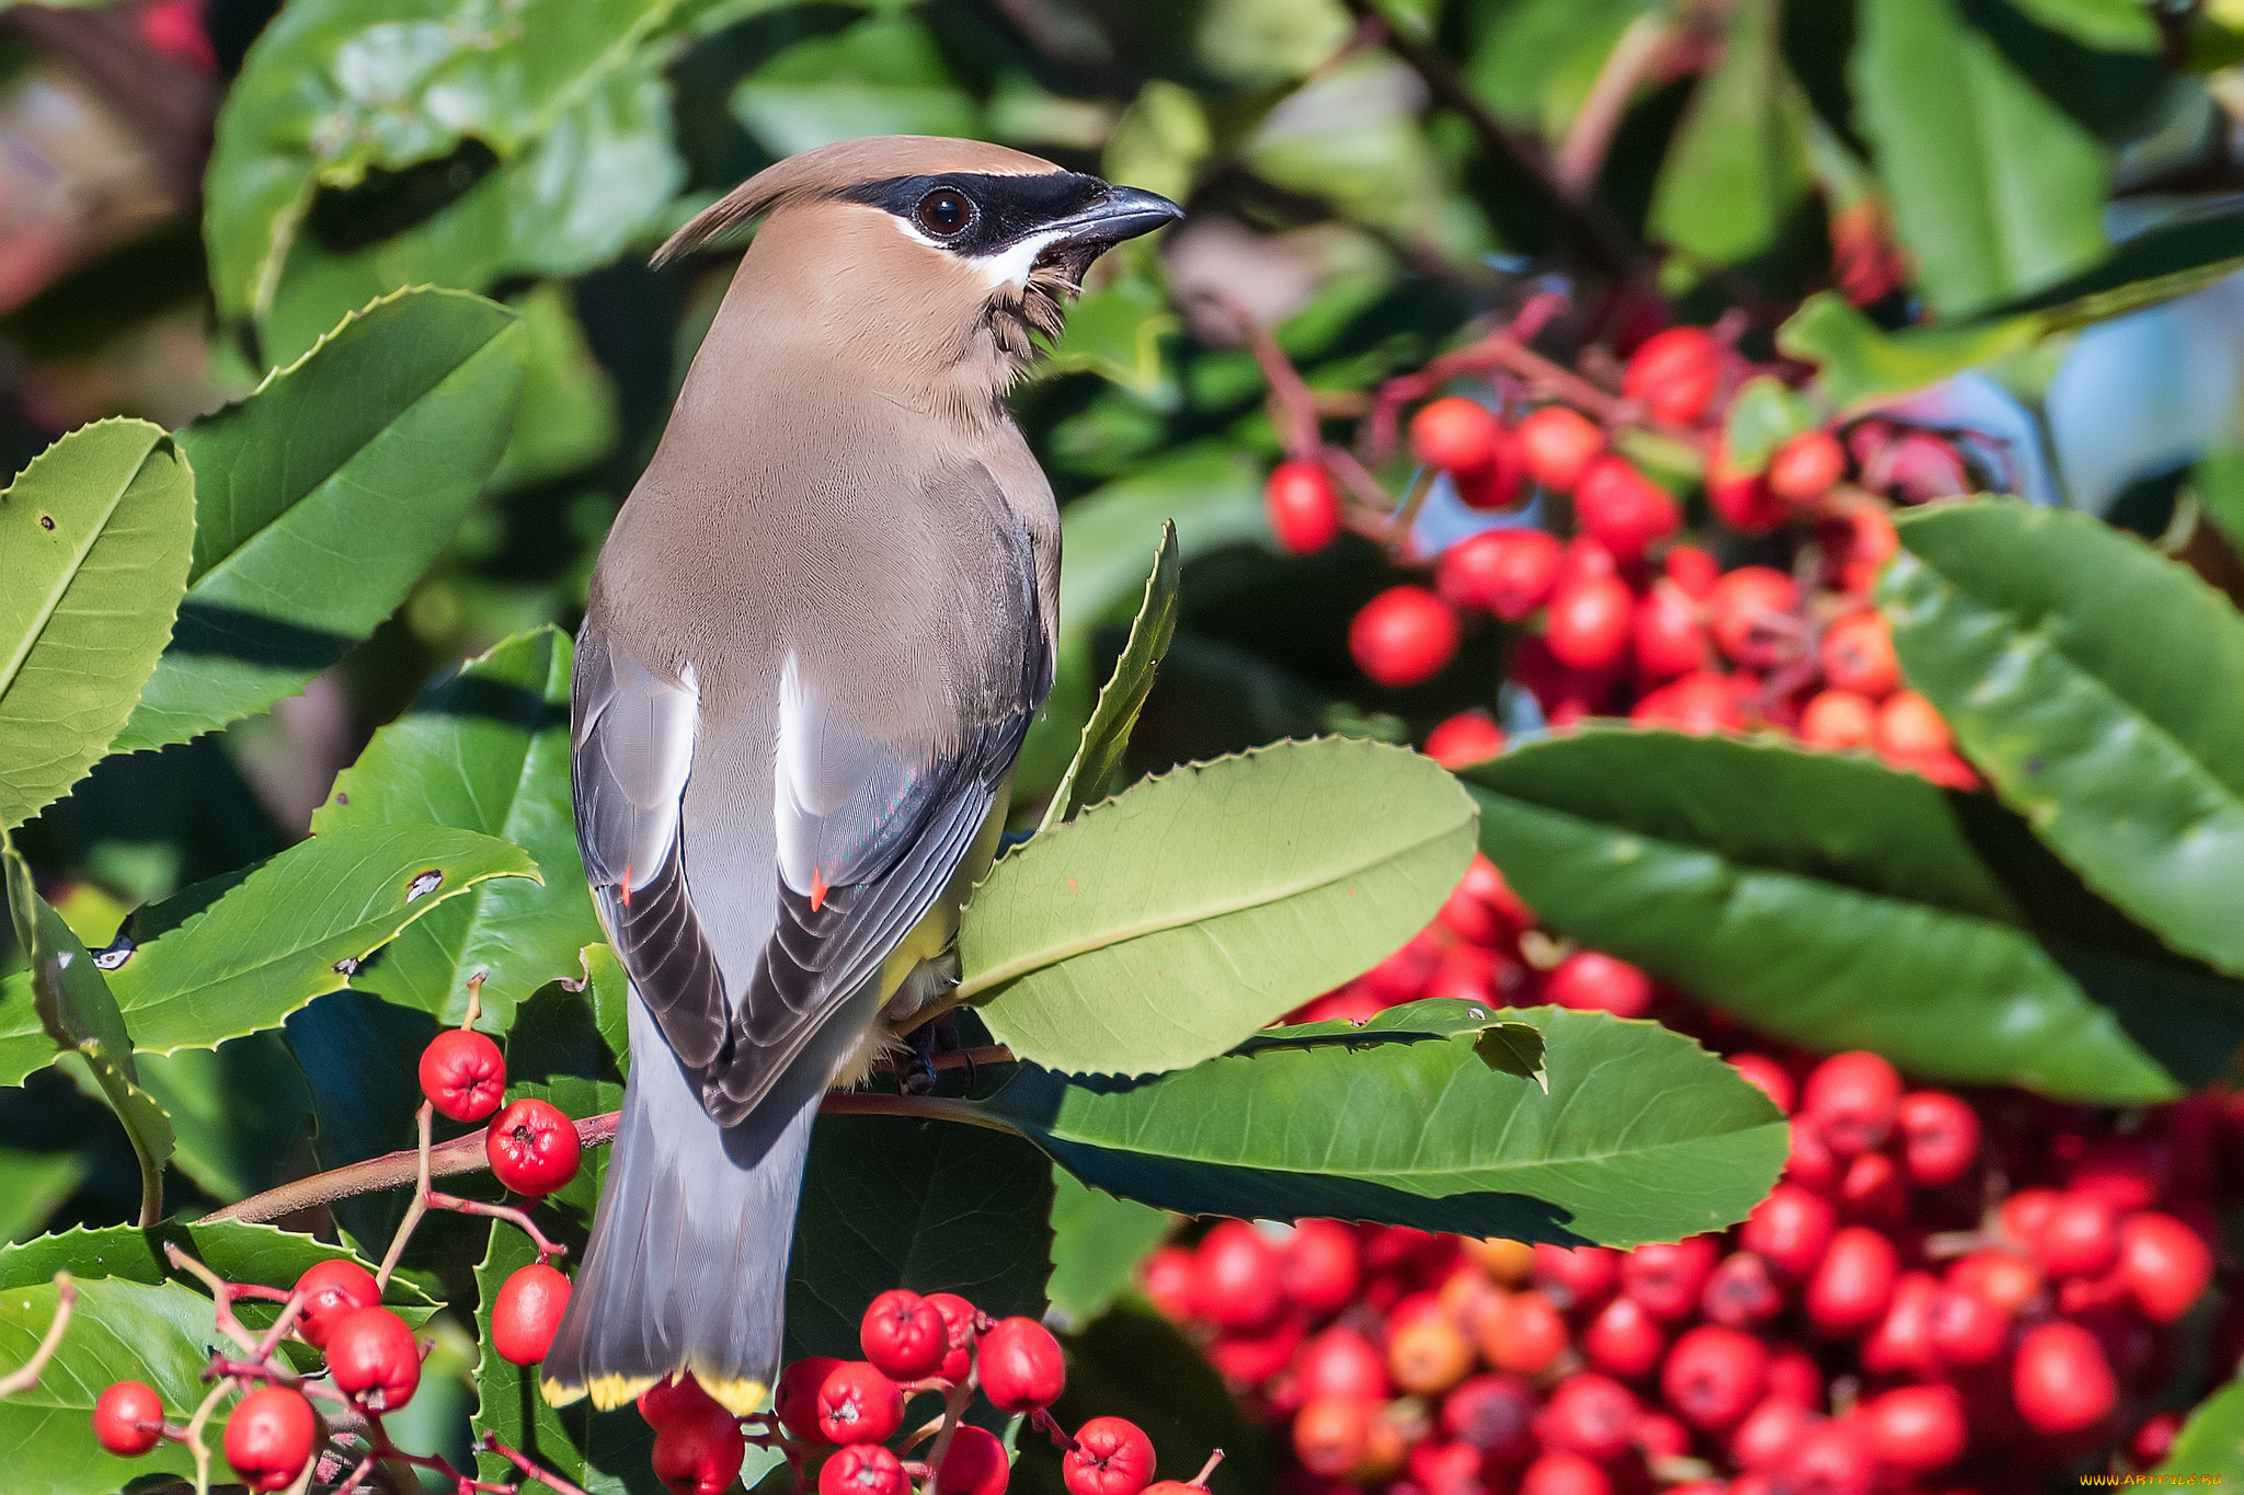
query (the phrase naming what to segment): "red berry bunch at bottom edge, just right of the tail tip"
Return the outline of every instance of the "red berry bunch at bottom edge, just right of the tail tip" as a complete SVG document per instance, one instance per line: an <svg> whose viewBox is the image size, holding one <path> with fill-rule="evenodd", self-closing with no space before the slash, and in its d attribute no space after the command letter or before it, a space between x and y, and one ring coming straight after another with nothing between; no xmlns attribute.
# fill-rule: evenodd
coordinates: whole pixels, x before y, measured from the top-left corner
<svg viewBox="0 0 2244 1495"><path fill-rule="evenodd" d="M960 1419L978 1387L992 1408L1030 1417L1066 1448L1068 1495L1205 1495L1205 1470L1192 1484L1153 1479L1153 1441L1135 1423L1095 1417L1068 1437L1052 1421L1066 1361L1032 1318L992 1320L956 1293L893 1289L866 1309L857 1338L862 1361L810 1356L781 1369L770 1414L734 1417L691 1376L644 1392L655 1477L675 1495L718 1495L758 1443L783 1450L797 1488L815 1482L819 1495L907 1495L929 1473L934 1495L1003 1495L1005 1443ZM942 1414L891 1448L920 1394L942 1396ZM925 1459L911 1459L920 1443Z"/></svg>

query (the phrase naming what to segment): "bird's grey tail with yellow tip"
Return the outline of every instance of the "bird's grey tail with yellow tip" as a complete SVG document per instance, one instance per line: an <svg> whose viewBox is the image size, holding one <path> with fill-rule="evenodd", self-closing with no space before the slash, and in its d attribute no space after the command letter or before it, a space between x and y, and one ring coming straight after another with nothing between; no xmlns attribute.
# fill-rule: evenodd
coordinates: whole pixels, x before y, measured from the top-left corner
<svg viewBox="0 0 2244 1495"><path fill-rule="evenodd" d="M788 1246L828 1076L781 1083L727 1130L702 1112L637 993L631 1047L640 1062L541 1390L552 1405L590 1394L606 1410L693 1372L747 1414L779 1374Z"/></svg>

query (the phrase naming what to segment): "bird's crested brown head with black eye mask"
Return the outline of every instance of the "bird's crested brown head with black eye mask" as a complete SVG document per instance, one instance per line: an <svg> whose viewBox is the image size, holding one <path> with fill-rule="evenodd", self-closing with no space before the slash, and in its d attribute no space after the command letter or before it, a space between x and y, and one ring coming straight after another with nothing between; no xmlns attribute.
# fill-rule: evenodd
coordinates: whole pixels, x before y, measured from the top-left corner
<svg viewBox="0 0 2244 1495"><path fill-rule="evenodd" d="M1183 217L1167 197L983 141L886 134L792 155L705 208L655 262L763 220L727 296L758 341L985 403L1057 336L1084 271Z"/></svg>

